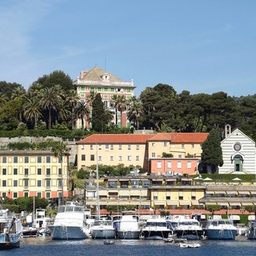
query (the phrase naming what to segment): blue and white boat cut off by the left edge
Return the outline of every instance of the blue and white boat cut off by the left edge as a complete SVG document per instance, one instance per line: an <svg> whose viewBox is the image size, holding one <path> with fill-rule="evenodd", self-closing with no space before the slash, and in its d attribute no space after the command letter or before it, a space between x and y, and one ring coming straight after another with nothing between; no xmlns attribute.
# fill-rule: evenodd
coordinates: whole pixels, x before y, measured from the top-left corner
<svg viewBox="0 0 256 256"><path fill-rule="evenodd" d="M22 222L11 217L8 209L0 209L0 250L18 248L22 238Z"/></svg>

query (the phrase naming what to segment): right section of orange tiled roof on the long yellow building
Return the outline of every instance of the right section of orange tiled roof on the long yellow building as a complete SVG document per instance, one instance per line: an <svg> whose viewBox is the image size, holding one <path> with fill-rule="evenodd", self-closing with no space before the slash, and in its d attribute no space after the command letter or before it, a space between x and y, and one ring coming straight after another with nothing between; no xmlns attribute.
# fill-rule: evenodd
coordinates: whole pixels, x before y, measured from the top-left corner
<svg viewBox="0 0 256 256"><path fill-rule="evenodd" d="M170 141L172 143L202 143L208 133L162 133L156 134L149 141Z"/></svg>

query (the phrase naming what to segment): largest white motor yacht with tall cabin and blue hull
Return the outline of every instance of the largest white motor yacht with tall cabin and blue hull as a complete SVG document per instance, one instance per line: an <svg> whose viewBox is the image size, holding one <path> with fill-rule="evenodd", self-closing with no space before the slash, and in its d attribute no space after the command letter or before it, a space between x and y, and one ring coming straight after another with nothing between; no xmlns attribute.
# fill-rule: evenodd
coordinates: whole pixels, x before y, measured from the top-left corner
<svg viewBox="0 0 256 256"><path fill-rule="evenodd" d="M86 225L85 209L78 202L66 202L58 206L58 214L54 224L49 225L52 239L85 239L88 228Z"/></svg>

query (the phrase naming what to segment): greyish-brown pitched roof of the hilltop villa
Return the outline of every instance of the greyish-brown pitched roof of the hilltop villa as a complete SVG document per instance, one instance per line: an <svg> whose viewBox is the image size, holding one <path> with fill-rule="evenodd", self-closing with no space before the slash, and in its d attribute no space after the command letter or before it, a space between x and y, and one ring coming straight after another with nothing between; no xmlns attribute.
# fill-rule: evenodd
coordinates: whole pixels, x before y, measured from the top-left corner
<svg viewBox="0 0 256 256"><path fill-rule="evenodd" d="M102 81L102 76L104 74L109 75L109 81L110 82L124 82L122 79L117 78L114 76L114 74L110 74L109 72L106 72L106 70L102 70L98 66L94 66L89 71L81 71L80 79L82 81Z"/></svg>

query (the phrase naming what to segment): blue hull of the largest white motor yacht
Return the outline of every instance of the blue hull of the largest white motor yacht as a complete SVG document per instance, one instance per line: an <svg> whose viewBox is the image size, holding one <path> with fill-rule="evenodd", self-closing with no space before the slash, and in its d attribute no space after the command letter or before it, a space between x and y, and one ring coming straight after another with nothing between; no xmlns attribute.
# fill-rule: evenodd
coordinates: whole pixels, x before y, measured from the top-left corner
<svg viewBox="0 0 256 256"><path fill-rule="evenodd" d="M54 240L85 239L86 233L80 226L48 226Z"/></svg>

